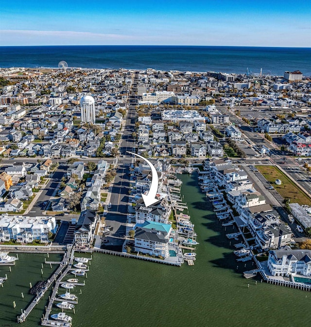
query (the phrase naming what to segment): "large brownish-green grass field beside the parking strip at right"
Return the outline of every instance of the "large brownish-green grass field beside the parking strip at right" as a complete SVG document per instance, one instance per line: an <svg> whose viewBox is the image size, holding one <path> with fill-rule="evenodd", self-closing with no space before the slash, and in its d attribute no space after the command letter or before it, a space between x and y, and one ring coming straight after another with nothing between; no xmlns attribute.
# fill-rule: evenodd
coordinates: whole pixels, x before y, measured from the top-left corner
<svg viewBox="0 0 311 327"><path fill-rule="evenodd" d="M298 186L294 184L283 172L274 166L256 166L260 173L271 182L271 185L284 198L290 198L291 203L311 205L311 199ZM281 180L281 185L276 185L276 180Z"/></svg>

